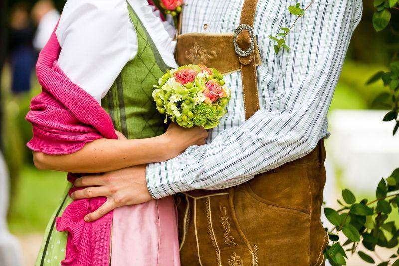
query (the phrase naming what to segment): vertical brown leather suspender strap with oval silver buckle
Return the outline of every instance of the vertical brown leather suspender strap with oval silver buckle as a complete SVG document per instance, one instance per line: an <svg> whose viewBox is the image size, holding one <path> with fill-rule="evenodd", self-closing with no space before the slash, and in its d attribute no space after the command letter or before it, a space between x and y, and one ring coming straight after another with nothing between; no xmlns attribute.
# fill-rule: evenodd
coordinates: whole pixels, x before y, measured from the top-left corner
<svg viewBox="0 0 399 266"><path fill-rule="evenodd" d="M259 96L256 73L256 49L253 24L258 0L245 0L240 26L234 32L235 52L239 55L244 93L245 119L259 110Z"/></svg>

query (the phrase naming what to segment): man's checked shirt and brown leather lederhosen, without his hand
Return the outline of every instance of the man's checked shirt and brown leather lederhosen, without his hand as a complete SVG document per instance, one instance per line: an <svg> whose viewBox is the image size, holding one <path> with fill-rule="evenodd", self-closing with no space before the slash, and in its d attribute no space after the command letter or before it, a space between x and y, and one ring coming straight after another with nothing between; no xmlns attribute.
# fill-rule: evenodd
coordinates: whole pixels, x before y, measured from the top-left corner
<svg viewBox="0 0 399 266"><path fill-rule="evenodd" d="M296 2L185 0L177 61L227 74L232 98L207 145L147 166L154 198L183 192L182 265L324 263L322 140L362 1L314 1L276 54Z"/></svg>

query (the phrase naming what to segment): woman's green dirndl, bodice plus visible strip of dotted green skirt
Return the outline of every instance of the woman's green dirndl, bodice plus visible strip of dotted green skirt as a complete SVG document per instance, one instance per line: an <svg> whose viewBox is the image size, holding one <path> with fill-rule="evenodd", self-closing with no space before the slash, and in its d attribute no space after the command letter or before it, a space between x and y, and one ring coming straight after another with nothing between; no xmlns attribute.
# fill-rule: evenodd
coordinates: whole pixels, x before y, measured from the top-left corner
<svg viewBox="0 0 399 266"><path fill-rule="evenodd" d="M138 51L135 58L122 69L107 95L102 107L109 113L115 129L129 139L149 138L164 132L163 117L152 100L153 85L158 83L169 67L162 60L143 23L128 3L129 16L136 30ZM62 215L72 202L68 184L59 206L54 211L45 230L36 266L59 266L65 259L67 232L55 228L55 218Z"/></svg>

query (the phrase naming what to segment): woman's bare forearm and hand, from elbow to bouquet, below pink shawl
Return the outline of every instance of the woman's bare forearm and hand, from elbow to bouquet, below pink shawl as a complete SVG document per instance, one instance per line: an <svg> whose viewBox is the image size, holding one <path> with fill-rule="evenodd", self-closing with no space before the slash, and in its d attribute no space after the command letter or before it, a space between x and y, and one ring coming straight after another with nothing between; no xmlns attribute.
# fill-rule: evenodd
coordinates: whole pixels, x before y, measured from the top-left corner
<svg viewBox="0 0 399 266"><path fill-rule="evenodd" d="M153 138L126 139L119 132L117 135L117 140L97 139L71 154L33 152L33 161L38 169L72 173L108 172L168 160L189 146L205 144L208 134L200 127L181 128L171 124L164 134Z"/></svg>

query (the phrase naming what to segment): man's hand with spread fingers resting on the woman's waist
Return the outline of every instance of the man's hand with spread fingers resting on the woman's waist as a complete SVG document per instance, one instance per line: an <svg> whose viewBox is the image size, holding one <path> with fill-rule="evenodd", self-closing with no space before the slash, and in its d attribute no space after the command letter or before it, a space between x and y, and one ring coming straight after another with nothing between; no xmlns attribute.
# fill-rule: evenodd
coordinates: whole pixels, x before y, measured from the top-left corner
<svg viewBox="0 0 399 266"><path fill-rule="evenodd" d="M72 199L104 196L107 201L84 217L86 222L97 220L113 209L140 204L152 199L147 189L146 165L132 166L102 175L87 175L76 179L76 187L87 187L71 194Z"/></svg>

